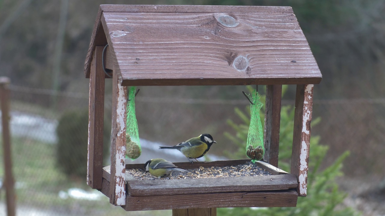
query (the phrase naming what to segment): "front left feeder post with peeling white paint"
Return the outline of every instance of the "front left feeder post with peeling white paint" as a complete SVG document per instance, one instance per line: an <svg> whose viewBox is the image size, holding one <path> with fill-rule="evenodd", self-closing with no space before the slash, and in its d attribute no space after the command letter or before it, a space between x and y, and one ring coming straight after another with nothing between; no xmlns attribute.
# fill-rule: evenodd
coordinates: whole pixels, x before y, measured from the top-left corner
<svg viewBox="0 0 385 216"><path fill-rule="evenodd" d="M126 204L127 87L120 85L119 75L113 71L110 203L123 206Z"/></svg>

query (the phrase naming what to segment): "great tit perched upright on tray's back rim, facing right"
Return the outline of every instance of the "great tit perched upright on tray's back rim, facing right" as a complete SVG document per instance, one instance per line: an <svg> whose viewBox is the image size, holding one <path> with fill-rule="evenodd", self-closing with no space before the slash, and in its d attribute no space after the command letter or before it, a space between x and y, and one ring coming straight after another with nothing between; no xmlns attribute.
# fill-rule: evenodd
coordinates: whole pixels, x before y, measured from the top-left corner
<svg viewBox="0 0 385 216"><path fill-rule="evenodd" d="M194 137L184 141L183 143L179 143L178 145L159 146L159 149L177 149L187 157L190 163L192 163L192 160L190 159L195 159L198 161L197 158L203 157L210 150L210 147L213 145L213 143L216 143L213 137L208 133L204 133L198 137Z"/></svg>

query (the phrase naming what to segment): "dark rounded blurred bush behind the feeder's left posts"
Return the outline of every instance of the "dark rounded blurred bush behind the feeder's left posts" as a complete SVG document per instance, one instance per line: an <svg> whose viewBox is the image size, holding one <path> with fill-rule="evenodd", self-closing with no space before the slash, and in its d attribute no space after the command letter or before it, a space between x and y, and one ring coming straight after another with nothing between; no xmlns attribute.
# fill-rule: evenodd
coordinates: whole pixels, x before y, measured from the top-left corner
<svg viewBox="0 0 385 216"><path fill-rule="evenodd" d="M57 166L67 176L87 175L88 110L67 111L56 128ZM108 154L110 130L104 125L104 155Z"/></svg>

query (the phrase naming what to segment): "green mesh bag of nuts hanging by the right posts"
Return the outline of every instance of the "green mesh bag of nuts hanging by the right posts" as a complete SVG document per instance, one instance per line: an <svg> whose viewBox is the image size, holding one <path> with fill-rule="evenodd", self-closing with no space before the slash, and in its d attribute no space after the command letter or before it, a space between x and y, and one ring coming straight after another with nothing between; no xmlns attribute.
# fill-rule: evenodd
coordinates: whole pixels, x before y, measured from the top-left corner
<svg viewBox="0 0 385 216"><path fill-rule="evenodd" d="M249 97L250 102L252 102L250 103L251 119L246 143L246 155L253 163L262 160L264 155L262 124L259 116L259 110L263 105L259 98L258 92L254 89L251 97Z"/></svg>

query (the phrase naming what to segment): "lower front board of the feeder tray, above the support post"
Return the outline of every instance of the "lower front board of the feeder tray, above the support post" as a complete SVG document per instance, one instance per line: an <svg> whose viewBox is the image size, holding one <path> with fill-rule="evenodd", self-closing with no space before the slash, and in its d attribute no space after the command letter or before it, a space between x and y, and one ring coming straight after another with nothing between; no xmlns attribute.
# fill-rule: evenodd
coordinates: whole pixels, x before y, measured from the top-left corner
<svg viewBox="0 0 385 216"><path fill-rule="evenodd" d="M233 192L206 194L177 194L158 196L127 196L126 211L226 208L226 207L295 207L295 190Z"/></svg>

